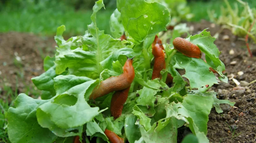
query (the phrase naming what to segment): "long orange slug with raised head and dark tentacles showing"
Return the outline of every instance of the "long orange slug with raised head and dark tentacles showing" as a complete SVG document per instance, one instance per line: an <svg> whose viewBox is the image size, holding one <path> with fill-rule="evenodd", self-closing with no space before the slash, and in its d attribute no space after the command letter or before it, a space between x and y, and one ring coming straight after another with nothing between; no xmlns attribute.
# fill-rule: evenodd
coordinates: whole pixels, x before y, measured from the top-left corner
<svg viewBox="0 0 256 143"><path fill-rule="evenodd" d="M93 89L89 99L96 99L98 97L107 95L108 93L128 88L135 77L135 72L132 65L133 58L130 59L127 57L123 67L124 72L121 75L112 76L106 80L101 81L100 85L97 85Z"/></svg>

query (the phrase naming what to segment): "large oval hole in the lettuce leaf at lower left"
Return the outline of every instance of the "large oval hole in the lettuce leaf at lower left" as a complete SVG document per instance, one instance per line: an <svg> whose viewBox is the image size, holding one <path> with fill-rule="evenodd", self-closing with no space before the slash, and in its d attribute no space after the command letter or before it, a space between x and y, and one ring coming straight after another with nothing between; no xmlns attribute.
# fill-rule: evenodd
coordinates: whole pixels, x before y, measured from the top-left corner
<svg viewBox="0 0 256 143"><path fill-rule="evenodd" d="M59 104L59 105L68 105L73 106L77 102L77 98L73 95L63 94L60 96L57 96L54 98L53 103Z"/></svg>

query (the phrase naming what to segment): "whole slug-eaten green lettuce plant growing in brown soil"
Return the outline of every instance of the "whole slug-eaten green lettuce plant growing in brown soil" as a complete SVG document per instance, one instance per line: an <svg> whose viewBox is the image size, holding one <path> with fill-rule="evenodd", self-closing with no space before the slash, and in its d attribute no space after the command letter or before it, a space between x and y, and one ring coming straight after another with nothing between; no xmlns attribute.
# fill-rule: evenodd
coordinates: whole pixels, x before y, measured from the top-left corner
<svg viewBox="0 0 256 143"><path fill-rule="evenodd" d="M186 126L193 133L186 140L209 142L206 134L211 109L221 113L219 104L234 104L207 91L213 84L227 82L215 38L206 29L187 38L205 53L207 63L175 53L172 45L164 44L167 68L161 71L161 80L151 80L151 44L170 23L168 8L157 2L117 0L109 21L112 36L97 28L97 12L102 8L103 1L97 1L92 23L83 36L64 40L65 26L57 29L55 57L46 57L45 73L32 78L42 90L42 100L22 93L15 107L8 110L10 141L72 142L74 136L80 136L87 142L93 137L97 142L109 142L104 134L108 129L130 143L177 142L178 129ZM124 31L128 38L121 41ZM126 56L135 56L135 78L122 115L114 120L109 109L113 93L93 101L88 98L100 81L123 72ZM176 64L185 69L183 76L174 68ZM219 80L210 67L218 71ZM174 77L171 87L165 84L167 73ZM190 86L183 78L189 79Z"/></svg>

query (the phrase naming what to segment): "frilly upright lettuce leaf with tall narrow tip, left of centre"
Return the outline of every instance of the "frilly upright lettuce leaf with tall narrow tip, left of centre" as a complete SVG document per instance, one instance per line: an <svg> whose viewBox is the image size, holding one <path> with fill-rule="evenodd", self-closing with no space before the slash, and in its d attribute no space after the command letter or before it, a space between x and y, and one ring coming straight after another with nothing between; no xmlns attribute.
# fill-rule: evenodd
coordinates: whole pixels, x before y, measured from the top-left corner
<svg viewBox="0 0 256 143"><path fill-rule="evenodd" d="M72 37L67 41L61 39L62 43L57 48L58 53L55 56L57 74L64 72L68 67L69 74L96 79L104 69L111 70L112 62L117 60L119 55L128 55L132 52L129 48L120 49L123 47L120 40L113 39L97 28L96 13L102 7L102 0L95 3L91 16L92 23L87 26L88 30L84 36ZM55 40L56 38L59 37L55 37Z"/></svg>

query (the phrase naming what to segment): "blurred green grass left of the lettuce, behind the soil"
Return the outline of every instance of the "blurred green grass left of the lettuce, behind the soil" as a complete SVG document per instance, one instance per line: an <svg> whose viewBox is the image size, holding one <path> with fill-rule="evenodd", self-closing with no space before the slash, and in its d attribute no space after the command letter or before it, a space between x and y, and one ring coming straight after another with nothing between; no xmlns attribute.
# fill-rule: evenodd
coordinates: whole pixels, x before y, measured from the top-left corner
<svg viewBox="0 0 256 143"><path fill-rule="evenodd" d="M110 34L109 18L114 9L100 10L97 13L97 27ZM28 11L1 11L0 33L9 31L32 32L40 35L53 36L57 27L66 26L64 35L75 36L85 34L87 25L91 24L92 10L68 12L53 12L52 10L39 13ZM3 20L4 19L4 20Z"/></svg>

